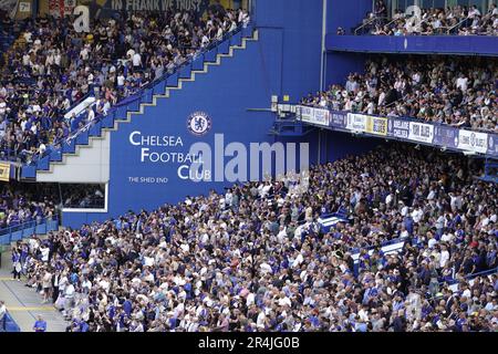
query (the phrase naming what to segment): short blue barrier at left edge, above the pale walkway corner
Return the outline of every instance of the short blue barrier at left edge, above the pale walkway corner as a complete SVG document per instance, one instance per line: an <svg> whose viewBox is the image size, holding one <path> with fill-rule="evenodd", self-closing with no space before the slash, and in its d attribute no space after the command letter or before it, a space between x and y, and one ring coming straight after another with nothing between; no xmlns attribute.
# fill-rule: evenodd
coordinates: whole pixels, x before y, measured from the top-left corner
<svg viewBox="0 0 498 354"><path fill-rule="evenodd" d="M0 229L0 244L10 244L23 238L39 233L44 235L59 229L59 218L44 218Z"/></svg>

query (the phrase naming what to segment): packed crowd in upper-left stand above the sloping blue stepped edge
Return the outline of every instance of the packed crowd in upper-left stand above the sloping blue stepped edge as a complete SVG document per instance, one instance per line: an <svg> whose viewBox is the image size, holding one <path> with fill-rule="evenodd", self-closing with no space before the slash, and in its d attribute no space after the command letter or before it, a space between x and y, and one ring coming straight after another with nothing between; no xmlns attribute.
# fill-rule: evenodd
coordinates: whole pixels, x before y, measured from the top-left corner
<svg viewBox="0 0 498 354"><path fill-rule="evenodd" d="M64 113L92 90L100 97L80 124L162 79L227 32L247 25L243 10L131 14L96 20L77 33L72 17L28 19L0 72L0 150L23 160L71 133Z"/></svg>

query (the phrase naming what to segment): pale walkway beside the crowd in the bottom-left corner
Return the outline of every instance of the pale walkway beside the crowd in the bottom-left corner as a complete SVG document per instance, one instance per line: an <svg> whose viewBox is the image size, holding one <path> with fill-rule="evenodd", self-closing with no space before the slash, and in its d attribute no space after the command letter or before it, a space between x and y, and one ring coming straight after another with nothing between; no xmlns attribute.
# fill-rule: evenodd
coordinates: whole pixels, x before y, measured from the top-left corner
<svg viewBox="0 0 498 354"><path fill-rule="evenodd" d="M3 300L12 319L22 332L33 332L37 315L46 321L46 332L64 332L68 322L52 304L42 304L42 296L33 288L12 280L10 253L2 253L0 269L0 300Z"/></svg>

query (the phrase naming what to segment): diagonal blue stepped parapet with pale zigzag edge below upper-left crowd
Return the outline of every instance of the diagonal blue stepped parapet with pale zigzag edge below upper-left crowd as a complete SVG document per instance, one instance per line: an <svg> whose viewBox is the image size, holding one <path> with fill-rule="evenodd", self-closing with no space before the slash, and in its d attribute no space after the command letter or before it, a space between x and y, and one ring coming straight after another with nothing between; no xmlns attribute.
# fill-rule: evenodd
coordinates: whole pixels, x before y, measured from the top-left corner
<svg viewBox="0 0 498 354"><path fill-rule="evenodd" d="M69 163L69 157L80 156L82 148L92 148L94 140L103 139L104 132L115 132L120 128L120 124L131 123L134 115L143 115L146 107L156 106L157 100L170 98L172 92L181 91L184 84L195 82L197 75L207 74L210 66L221 65L222 59L232 58L237 50L245 50L248 42L258 40L259 32L257 29L253 29L252 27L243 29L232 38L220 43L217 48L204 53L201 63L196 63L194 61L189 70L188 67L184 72L180 70L179 73L170 75L163 82L158 82L153 88L145 92L136 102L131 102L123 108L120 107L114 111L112 115L104 117L87 131L82 132L71 143L64 143L62 146L62 154L54 153L45 156L43 158L45 160L37 164L34 173L53 174L56 166L66 165ZM23 178L30 177L32 178L31 175L23 176Z"/></svg>

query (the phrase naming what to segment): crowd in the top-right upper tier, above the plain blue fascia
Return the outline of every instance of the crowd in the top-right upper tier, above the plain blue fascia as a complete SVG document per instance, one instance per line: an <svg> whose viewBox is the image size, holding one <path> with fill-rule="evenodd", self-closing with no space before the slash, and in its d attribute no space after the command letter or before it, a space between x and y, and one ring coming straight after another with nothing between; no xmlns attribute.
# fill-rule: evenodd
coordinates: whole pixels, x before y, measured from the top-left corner
<svg viewBox="0 0 498 354"><path fill-rule="evenodd" d="M374 11L369 12L356 34L373 35L498 35L498 8L490 3L488 11L481 13L477 6L454 6L428 8L419 11L396 10L387 17L383 0L375 2Z"/></svg>

